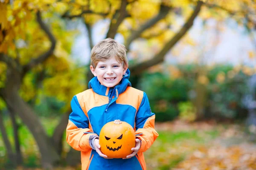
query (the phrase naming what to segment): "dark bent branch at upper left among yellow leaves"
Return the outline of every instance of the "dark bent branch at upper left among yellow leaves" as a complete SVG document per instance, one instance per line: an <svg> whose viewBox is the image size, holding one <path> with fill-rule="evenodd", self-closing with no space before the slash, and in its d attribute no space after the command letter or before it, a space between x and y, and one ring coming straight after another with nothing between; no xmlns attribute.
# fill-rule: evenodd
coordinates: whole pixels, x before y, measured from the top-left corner
<svg viewBox="0 0 256 170"><path fill-rule="evenodd" d="M47 37L52 42L52 45L49 48L49 50L46 51L44 54L41 54L36 59L32 59L28 64L24 65L22 76L24 76L26 74L26 72L29 71L31 68L33 68L35 65L38 65L39 63L44 62L50 55L52 55L55 45L56 45L55 37L52 35L52 32L49 30L47 25L42 21L41 12L38 11L36 16L37 16L37 21L38 21L41 29L47 34Z"/></svg>

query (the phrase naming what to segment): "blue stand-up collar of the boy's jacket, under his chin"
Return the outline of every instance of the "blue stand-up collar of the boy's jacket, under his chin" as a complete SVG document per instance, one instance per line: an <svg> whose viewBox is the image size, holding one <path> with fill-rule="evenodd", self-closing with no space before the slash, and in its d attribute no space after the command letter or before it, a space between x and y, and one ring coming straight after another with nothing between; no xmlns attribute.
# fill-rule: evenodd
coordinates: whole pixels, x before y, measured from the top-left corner
<svg viewBox="0 0 256 170"><path fill-rule="evenodd" d="M119 82L119 85L116 85L115 87L112 88L107 88L104 85L101 85L97 77L93 77L89 84L88 88L92 88L93 91L96 94L102 95L102 96L116 96L118 97L119 94L122 94L127 86L131 86L131 82L129 81L130 77L130 70L127 69L126 73L123 75L122 80Z"/></svg>

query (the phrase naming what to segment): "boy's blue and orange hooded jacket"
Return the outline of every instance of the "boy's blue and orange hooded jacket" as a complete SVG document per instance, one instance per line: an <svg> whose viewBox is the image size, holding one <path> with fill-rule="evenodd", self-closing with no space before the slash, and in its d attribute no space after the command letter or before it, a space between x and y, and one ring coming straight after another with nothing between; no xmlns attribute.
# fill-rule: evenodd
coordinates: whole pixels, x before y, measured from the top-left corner
<svg viewBox="0 0 256 170"><path fill-rule="evenodd" d="M67 125L67 143L81 151L82 170L145 170L145 152L158 133L154 129L155 114L151 112L145 92L131 87L127 70L119 85L107 88L97 77L89 82L89 89L73 97L72 113ZM130 159L105 159L90 147L90 136L99 136L108 122L120 119L134 127L141 140L136 156Z"/></svg>

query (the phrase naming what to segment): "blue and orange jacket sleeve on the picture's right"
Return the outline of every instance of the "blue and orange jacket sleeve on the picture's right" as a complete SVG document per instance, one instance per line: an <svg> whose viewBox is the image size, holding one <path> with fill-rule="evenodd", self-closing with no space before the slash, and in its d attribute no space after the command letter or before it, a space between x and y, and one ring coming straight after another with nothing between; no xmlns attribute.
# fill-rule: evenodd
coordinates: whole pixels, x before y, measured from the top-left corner
<svg viewBox="0 0 256 170"><path fill-rule="evenodd" d="M135 135L141 140L139 152L145 152L157 139L158 133L154 129L155 114L151 112L148 97L143 93L143 99L135 117Z"/></svg>

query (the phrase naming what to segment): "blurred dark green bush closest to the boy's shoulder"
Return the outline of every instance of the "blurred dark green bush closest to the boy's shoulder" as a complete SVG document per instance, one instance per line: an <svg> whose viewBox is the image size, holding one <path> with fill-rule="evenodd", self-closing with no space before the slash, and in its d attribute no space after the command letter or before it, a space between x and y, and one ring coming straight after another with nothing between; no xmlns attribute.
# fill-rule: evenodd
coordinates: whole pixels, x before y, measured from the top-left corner
<svg viewBox="0 0 256 170"><path fill-rule="evenodd" d="M162 73L144 74L140 80L140 89L145 91L156 113L156 121L173 120L178 116L177 103L188 100L189 86L186 79L170 79Z"/></svg>

